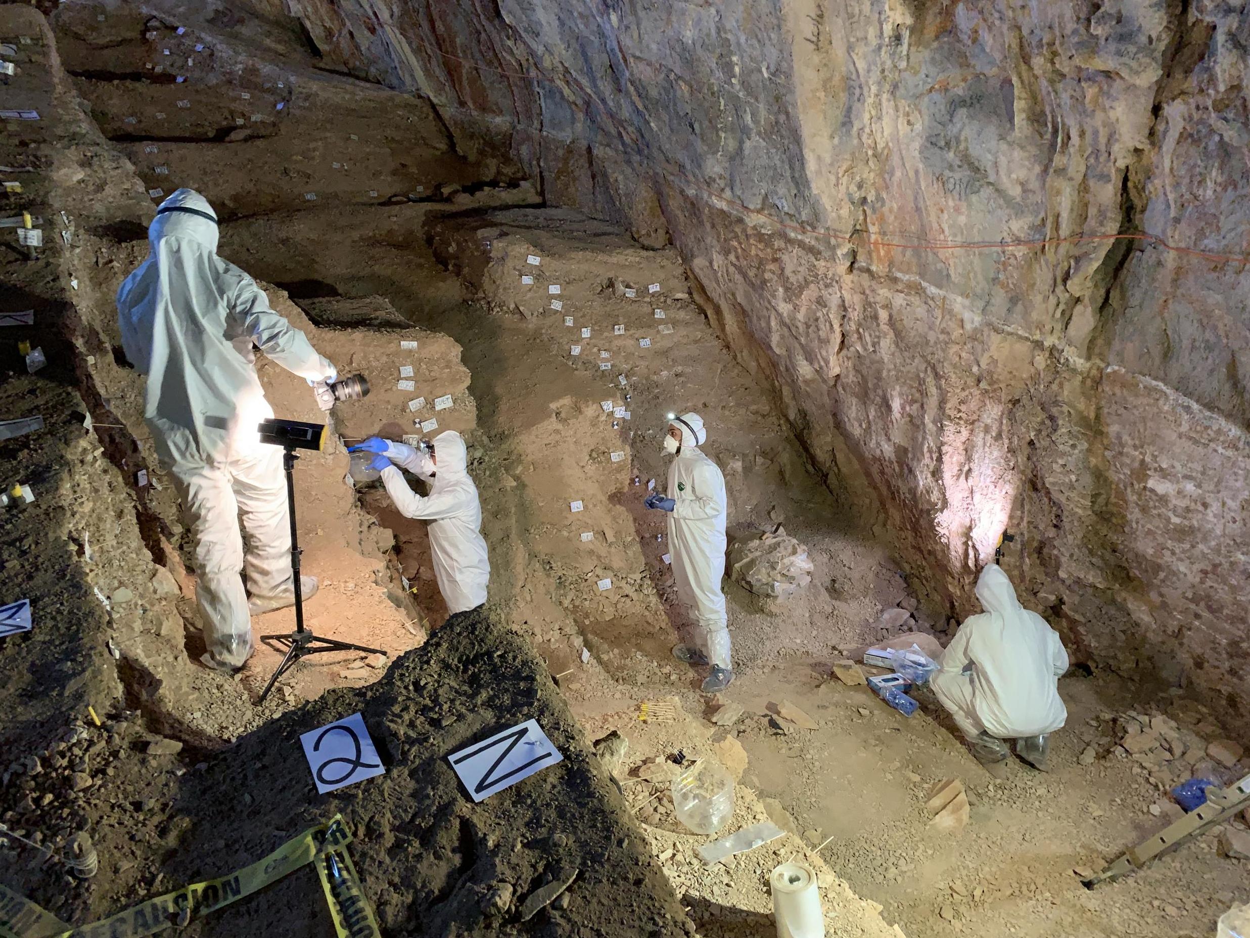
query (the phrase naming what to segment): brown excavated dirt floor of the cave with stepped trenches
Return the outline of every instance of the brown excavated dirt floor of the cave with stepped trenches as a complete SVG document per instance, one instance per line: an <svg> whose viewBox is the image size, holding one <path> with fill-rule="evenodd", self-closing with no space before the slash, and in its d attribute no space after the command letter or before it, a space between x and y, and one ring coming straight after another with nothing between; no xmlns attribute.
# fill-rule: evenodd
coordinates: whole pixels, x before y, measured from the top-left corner
<svg viewBox="0 0 1250 938"><path fill-rule="evenodd" d="M194 570L184 570L186 545L171 490L156 488L161 480L138 419L141 386L119 363L110 308L112 290L145 253L142 225L159 196L146 199L144 190L170 193L180 185L200 189L219 206L222 256L275 285L270 291L275 308L309 329L340 371L361 370L370 378L376 389L370 398L336 409L341 436L350 441L375 431L395 439L420 433L414 419L434 413L429 405L410 411L408 401L452 395L454 406L436 419L439 429L459 429L470 443L470 472L482 497L492 568L489 610L528 637L545 668L558 675L580 724L578 729L556 718L568 739L580 733L599 739L616 730L628 740L628 753L608 767L619 778L624 803L598 777L582 779L585 788L576 799L589 804L606 798L634 812L699 934L772 934L768 870L794 854L805 854L821 875L831 934L1196 938L1211 933L1215 918L1230 904L1250 899L1246 860L1221 855L1219 833L1094 892L1084 889L1072 872L1098 869L1168 823L1175 810L1164 794L1170 783L1190 772L1231 774L1200 763L1206 742L1220 738L1222 729L1182 695L1109 674L1074 672L1060 688L1070 717L1054 738L1052 770L1041 775L1014 763L1009 777L998 782L970 758L931 698L921 694L921 712L906 719L865 688L830 680L830 663L844 649L905 630L945 642L944 610L912 595L906 572L871 535L871 507L856 504L840 480L814 478L769 390L716 339L674 251L644 249L599 221L544 208L508 166L474 164L455 154L424 103L315 73L280 30L249 23L248 30L235 33L231 24L200 24L178 35L175 24L151 24L79 3L64 4L54 23L66 68L76 75L74 88L61 93L80 94L91 120L78 111L52 125L60 134L56 141L74 156L54 164L49 155L42 165L60 169L52 175L61 183L72 180L70 191L76 186L81 214L72 209L71 214L81 220L60 266L49 260L40 273L20 258L6 263L22 268L31 283L29 295L40 299L52 294L54 284L68 291L71 274L78 279L72 289L79 321L66 326L78 351L66 348L64 358L78 356L79 364L70 366L54 356L42 376L9 381L0 393L5 406L0 418L25 415L29 401L55 405L58 414L72 413L69 386L78 385L88 389L82 409L105 426L98 426L95 436L84 430L82 441L75 444L62 439L72 420L61 416L55 440L0 444L6 472L30 466L32 478L59 480L56 490L64 493L55 502L29 507L30 517L22 520L29 527L16 535L6 529L4 544L6 552L25 557L39 529L64 533L72 544L84 528L74 523L82 515L74 508L74 480L90 472L91 460L116 466L112 475L100 477L99 492L88 493L96 507L92 512L122 504L126 517L112 520L100 512L108 533L99 542L91 534L101 559L90 577L80 578L79 567L71 565L64 585L49 585L56 564L65 565L61 542L55 550L40 542L44 553L36 552L42 558L36 569L42 579L32 579L8 553L0 570L5 602L11 590L29 589L61 597L58 602L66 608L96 619L75 627L81 638L72 639L75 654L68 655L64 699L36 703L35 688L21 684L0 697L11 702L9 712L30 714L21 727L6 728L10 743L49 738L56 725L65 738L55 745L82 750L60 754L52 747L52 758L65 759L59 765L64 779L55 788L41 787L29 765L10 767L12 778L22 780L6 783L4 822L20 823L26 832L46 828L44 835L54 839L91 829L114 848L101 857L114 885L98 887L85 903L64 895L82 887L48 877L38 883L36 898L49 908L66 915L86 904L109 910L128 892L171 888L204 874L205 867L225 872L244 857L261 855L308 822L324 819L331 807L354 813L368 832L358 830L360 848L354 855L388 933L510 933L500 924L510 920L510 912L490 918L491 903L498 902L491 884L506 880L512 894L524 898L562 872L544 867L560 853L551 844L535 847L540 857L526 847L549 835L539 833L548 814L538 802L522 805L531 815L492 817L479 825L444 778L445 764L422 749L429 744L430 752L444 753L455 742L451 735L471 740L475 729L490 723L452 703L489 682L468 670L451 677L438 672L435 665L448 660L444 648L460 643L458 654L485 655L498 645L528 654L510 644L511 635L490 632L489 640L479 637L479 648L470 647L465 633L444 638L435 632L422 652L400 659L388 678L350 697L351 688L376 680L399 654L418 647L428 629L441 624L446 609L430 575L422 525L389 510L376 485L350 490L342 478L341 446L301 458L298 466L305 569L322 578L322 592L308 612L319 632L384 648L388 660L375 662L382 667L370 667L358 655L310 662L261 709L254 709L251 699L276 662L272 649L259 652L239 683L191 664L198 655L194 604L188 599ZM196 44L210 55L201 58ZM161 78L169 71L164 64L155 71L166 48L169 59L195 60L188 81ZM32 53L31 76L39 73L40 54ZM44 93L51 95L51 86ZM254 114L262 116L252 120ZM109 140L92 130L92 120ZM10 151L0 163L14 160ZM122 178L131 183L116 181ZM308 199L309 194L316 198ZM92 208L90 196L99 205ZM529 261L531 255L538 264ZM654 293L651 284L658 284ZM559 293L551 291L556 285ZM322 309L319 304L336 298L379 298L379 309L392 308L410 325L312 326L298 308ZM15 308L25 309L24 298L18 299ZM416 355L400 349L400 340L416 340ZM20 359L10 360L10 345L5 368L20 370ZM404 364L416 370L418 386L411 391L398 388ZM301 381L271 366L264 368L262 378L278 413L316 416ZM698 692L701 674L669 654L688 622L675 605L662 559L668 553L662 515L641 504L652 479L664 487L668 466L660 441L670 410L696 410L709 426L705 450L725 470L731 537L781 523L808 547L815 565L811 584L788 600L764 599L726 582L738 680L718 700ZM101 453L94 451L95 439ZM49 455L54 449L72 460L44 469L44 463L55 461ZM132 477L140 468L156 485L135 487ZM575 500L582 503L581 512L570 510ZM582 539L585 533L590 539ZM601 590L598 584L604 579L611 587ZM169 583L175 584L172 590ZM81 598L96 585L114 600L122 588L138 595L141 612L136 609L134 623L126 625L118 615L125 602L110 603L111 619L101 615L102 605L84 605ZM882 628L882 613L900 605L911 618ZM264 633L289 630L290 614L274 613L258 619L256 627ZM121 660L134 662L130 672L122 670L122 682L112 684L88 677L108 669L110 638L122 645ZM0 648L0 662L22 673L29 668L20 658L24 653L42 660L9 639ZM160 679L135 679L135 674ZM444 683L436 690L420 689L426 679ZM345 689L332 690L336 687ZM402 727L386 717L399 697ZM535 707L559 713L554 694L540 688L538 697ZM299 707L306 698L315 703ZM95 765L81 770L96 778L94 785L105 784L104 765L115 767L118 774L108 788L66 794L64 815L41 824L45 793L59 798L70 785L72 759L91 762L85 753L95 743L84 735L90 728L81 712L92 699L106 702L112 724L104 749L92 750L99 773ZM389 727L388 739L394 733L399 749L390 755L405 768L389 774L384 785L310 802L300 788L308 788L302 760L282 757L285 750L274 747L289 745L296 732L350 712L349 700L360 704L352 709L365 709L366 717L374 714L369 718ZM675 704L671 722L639 719L639 705L656 700ZM801 729L779 718L782 702L801 708L818 728ZM520 707L496 703L500 714ZM710 718L722 704L741 705L744 713L731 724L716 725ZM280 715L295 707L296 713ZM1158 748L1145 759L1130 757L1119 745L1126 720L1135 719L1126 717L1130 712L1175 718L1191 734L1182 747L1186 755ZM429 727L430 720L448 723ZM260 734L244 735L265 724ZM145 755L144 745L156 733L184 740L188 750L181 757ZM206 757L240 735L234 748ZM66 742L70 737L76 738ZM734 822L725 832L771 818L788 828L786 837L706 868L694 848L709 838L675 822L666 793L675 770L671 759L679 753L736 763L742 773ZM1199 758L1190 758L1195 753ZM278 765L279 758L291 764ZM239 794L231 773L251 764L256 773L274 773L264 783L271 785L271 798ZM186 779L175 774L188 770ZM961 832L941 833L928 825L924 802L934 783L952 777L968 788L970 822ZM544 782L532 797L541 799L549 784L555 782ZM132 790L118 794L126 787ZM92 798L96 790L109 794ZM226 794L210 794L221 792ZM240 797L255 803L240 807ZM400 817L408 799L421 807ZM132 813L149 833L124 837ZM374 815L380 819L370 820ZM426 824L426 818L438 823ZM226 825L241 839L190 855L179 845L205 837L188 834L184 824L198 824L200 830ZM526 825L528 832L514 838L514 828ZM578 855L589 858L609 845L610 829L570 828L568 835L578 844ZM632 834L621 837L632 844ZM514 839L515 849L505 850ZM826 840L818 855L814 848ZM130 845L121 849L122 842ZM608 850L612 862L635 862L631 854L615 853ZM22 852L0 854L6 882L26 859ZM579 864L581 882L590 883L586 877L594 865ZM412 882L401 873L410 868L418 870ZM632 877L614 869L605 868L604 883L614 882L609 874ZM650 883L646 877L652 873L639 875ZM265 918L268 910L241 904L199 933L319 933L328 927L324 912L308 904L308 883L291 883L281 887L272 904L288 922L286 930L274 930L276 918ZM601 899L591 889L574 887L570 895L572 908L590 903L579 912L579 922L604 914L618 928L626 919L624 913L611 918L595 904ZM639 933L680 934L680 909L658 902L661 918ZM442 918L420 923L414 918L431 908L441 909L434 914ZM511 908L505 904L500 910ZM650 907L634 912L642 918L652 914ZM664 914L670 915L668 924ZM552 934L570 933L560 930L556 913L542 920L551 923ZM621 925L612 933L630 932Z"/></svg>

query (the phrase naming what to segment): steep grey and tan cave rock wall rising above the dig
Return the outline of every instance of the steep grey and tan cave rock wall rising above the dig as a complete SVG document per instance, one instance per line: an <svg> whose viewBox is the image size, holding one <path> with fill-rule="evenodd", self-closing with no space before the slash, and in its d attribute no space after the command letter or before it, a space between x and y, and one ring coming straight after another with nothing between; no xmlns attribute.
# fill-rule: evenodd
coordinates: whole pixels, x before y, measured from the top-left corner
<svg viewBox="0 0 1250 938"><path fill-rule="evenodd" d="M429 96L549 204L668 234L814 460L875 492L954 613L1006 528L1069 644L1245 704L1234 5L261 6Z"/></svg>

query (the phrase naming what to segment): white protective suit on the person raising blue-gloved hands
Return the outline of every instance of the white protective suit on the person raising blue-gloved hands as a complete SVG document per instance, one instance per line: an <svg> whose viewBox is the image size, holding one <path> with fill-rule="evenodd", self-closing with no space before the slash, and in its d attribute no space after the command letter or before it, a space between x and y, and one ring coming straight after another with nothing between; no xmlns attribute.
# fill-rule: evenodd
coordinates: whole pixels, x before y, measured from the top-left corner
<svg viewBox="0 0 1250 938"><path fill-rule="evenodd" d="M382 484L405 518L430 523L434 578L451 613L476 609L486 602L490 559L481 537L481 502L469 478L464 438L445 430L434 438L435 464L425 453L402 443L390 444L388 455L419 479L430 483L429 495L418 495L394 465L382 469Z"/></svg>

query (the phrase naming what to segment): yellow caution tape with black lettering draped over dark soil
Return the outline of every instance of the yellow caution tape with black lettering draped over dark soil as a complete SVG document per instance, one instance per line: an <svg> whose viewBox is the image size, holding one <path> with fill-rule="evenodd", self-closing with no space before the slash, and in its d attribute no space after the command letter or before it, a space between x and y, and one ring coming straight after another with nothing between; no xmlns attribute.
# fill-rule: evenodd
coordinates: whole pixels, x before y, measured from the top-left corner
<svg viewBox="0 0 1250 938"><path fill-rule="evenodd" d="M329 824L320 824L288 840L264 859L250 867L219 879L184 885L171 893L119 912L100 922L81 928L70 928L50 913L0 887L0 938L142 938L164 932L175 925L184 927L210 912L225 908L239 899L264 889L300 867L319 860L318 873L325 888L326 902L334 917L340 938L378 935L378 922L365 899L356 877L356 868L348 855L351 834L336 814ZM338 870L332 883L326 884L328 872L321 869L322 858L334 857ZM21 924L28 930L18 930L20 923L44 922L46 928L29 930L31 924ZM344 930L346 928L346 930Z"/></svg>

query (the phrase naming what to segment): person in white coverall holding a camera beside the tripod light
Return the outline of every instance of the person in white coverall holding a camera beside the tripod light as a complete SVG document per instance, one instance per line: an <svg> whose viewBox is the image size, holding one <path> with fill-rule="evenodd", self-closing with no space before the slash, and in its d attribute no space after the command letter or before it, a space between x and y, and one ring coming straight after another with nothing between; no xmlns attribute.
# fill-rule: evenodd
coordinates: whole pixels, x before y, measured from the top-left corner
<svg viewBox="0 0 1250 938"><path fill-rule="evenodd" d="M201 660L232 670L254 648L250 615L295 602L282 450L262 444L256 429L274 411L254 349L310 384L338 374L269 308L255 280L216 255L216 214L199 193L179 189L162 201L148 240L148 259L118 290L121 346L148 375L144 418L195 539L209 649ZM322 385L316 394L329 410L332 391ZM301 578L301 587L308 599L316 579Z"/></svg>

